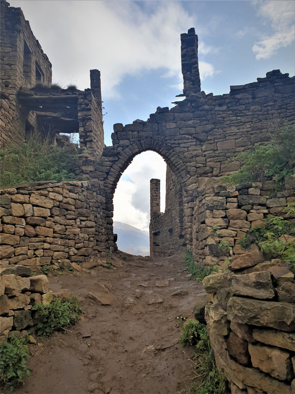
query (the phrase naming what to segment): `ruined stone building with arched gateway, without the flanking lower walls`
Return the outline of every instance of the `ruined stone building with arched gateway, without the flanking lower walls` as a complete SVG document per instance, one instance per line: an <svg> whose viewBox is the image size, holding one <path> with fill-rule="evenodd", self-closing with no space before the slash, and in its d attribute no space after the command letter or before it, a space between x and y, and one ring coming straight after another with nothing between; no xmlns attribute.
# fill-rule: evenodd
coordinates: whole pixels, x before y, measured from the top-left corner
<svg viewBox="0 0 295 394"><path fill-rule="evenodd" d="M158 107L147 121L115 124L113 145L105 147L100 72L90 70L90 89L85 91L55 89L51 86L51 63L21 9L4 0L0 4L0 144L18 143L29 133L79 132L80 146L87 152L79 156L76 180L89 182L91 253L102 254L116 247L113 197L121 174L136 155L157 152L167 163L168 202L161 213L159 183L151 180L150 253L154 257L171 255L185 246L193 249L201 263L211 262L214 252L202 234L205 221L214 217L210 217L210 209L202 211L199 190L209 178L237 170L239 162L228 163L236 153L256 143L268 143L276 125L295 122L294 77L273 70L257 82L231 86L224 95L206 95L201 91L198 36L189 29L181 34L184 89L179 97L183 100L171 109ZM218 197L227 203L230 197L223 192L224 196ZM212 196L214 193L212 190ZM70 205L65 209L74 210L75 204ZM238 239L234 238L231 242L235 244Z"/></svg>

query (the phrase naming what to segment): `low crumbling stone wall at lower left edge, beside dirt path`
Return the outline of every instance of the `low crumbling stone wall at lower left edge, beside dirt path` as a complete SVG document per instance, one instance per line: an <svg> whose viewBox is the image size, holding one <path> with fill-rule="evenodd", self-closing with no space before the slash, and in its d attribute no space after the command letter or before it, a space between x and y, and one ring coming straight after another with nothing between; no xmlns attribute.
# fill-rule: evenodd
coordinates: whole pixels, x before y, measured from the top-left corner
<svg viewBox="0 0 295 394"><path fill-rule="evenodd" d="M27 266L0 267L0 344L23 335L24 329L33 331L32 306L48 305L53 299L46 275L31 275Z"/></svg>

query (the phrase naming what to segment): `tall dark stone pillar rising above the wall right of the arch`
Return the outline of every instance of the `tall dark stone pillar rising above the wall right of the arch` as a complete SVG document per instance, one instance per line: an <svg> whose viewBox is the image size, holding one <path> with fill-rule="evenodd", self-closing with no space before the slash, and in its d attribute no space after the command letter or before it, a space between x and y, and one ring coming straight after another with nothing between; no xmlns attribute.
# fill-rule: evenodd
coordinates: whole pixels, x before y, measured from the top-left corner
<svg viewBox="0 0 295 394"><path fill-rule="evenodd" d="M198 62L198 36L195 29L180 34L181 71L183 75L183 94L188 97L192 93L201 92L201 80Z"/></svg>

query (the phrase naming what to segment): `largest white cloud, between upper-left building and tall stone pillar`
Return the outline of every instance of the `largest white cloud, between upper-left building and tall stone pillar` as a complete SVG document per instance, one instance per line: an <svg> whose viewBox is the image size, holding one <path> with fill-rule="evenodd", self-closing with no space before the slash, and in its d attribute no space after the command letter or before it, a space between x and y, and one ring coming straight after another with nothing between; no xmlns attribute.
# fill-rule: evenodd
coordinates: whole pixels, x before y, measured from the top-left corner
<svg viewBox="0 0 295 394"><path fill-rule="evenodd" d="M11 0L11 5L21 6L29 19L53 63L54 80L66 85L73 79L84 89L89 69L98 68L104 98L118 98L116 87L126 75L161 68L178 78L179 35L195 25L195 17L176 1ZM216 49L200 42L200 53ZM212 65L202 67L203 79L214 74Z"/></svg>

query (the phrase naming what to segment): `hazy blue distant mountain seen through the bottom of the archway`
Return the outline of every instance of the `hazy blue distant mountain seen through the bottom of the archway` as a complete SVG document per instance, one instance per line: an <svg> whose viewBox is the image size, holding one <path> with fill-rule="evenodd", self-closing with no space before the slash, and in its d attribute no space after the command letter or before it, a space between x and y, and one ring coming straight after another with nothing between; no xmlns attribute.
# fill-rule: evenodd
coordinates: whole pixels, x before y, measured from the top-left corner
<svg viewBox="0 0 295 394"><path fill-rule="evenodd" d="M137 256L149 256L149 233L126 223L114 221L114 233L118 234L118 249Z"/></svg>

